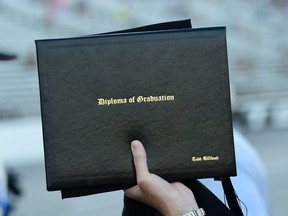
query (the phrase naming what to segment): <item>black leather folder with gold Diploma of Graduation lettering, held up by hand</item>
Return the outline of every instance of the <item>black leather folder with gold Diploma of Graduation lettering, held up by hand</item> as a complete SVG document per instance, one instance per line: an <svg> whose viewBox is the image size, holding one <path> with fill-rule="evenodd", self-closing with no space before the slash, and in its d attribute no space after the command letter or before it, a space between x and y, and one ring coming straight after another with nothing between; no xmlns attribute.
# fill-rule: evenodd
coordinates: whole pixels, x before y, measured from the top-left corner
<svg viewBox="0 0 288 216"><path fill-rule="evenodd" d="M130 143L168 181L236 175L225 27L36 40L47 189L136 183Z"/></svg>

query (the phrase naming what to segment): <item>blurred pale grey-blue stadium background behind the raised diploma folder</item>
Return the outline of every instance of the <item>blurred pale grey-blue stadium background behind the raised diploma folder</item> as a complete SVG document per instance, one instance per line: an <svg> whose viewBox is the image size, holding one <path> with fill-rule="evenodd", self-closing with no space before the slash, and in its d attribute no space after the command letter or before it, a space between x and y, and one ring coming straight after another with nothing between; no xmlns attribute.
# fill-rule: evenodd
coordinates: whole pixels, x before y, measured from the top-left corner
<svg viewBox="0 0 288 216"><path fill-rule="evenodd" d="M272 212L287 215L287 0L0 0L0 155L23 194L13 216L120 215L122 192L62 201L45 191L35 39L191 18L226 26L234 123L268 170Z"/></svg>

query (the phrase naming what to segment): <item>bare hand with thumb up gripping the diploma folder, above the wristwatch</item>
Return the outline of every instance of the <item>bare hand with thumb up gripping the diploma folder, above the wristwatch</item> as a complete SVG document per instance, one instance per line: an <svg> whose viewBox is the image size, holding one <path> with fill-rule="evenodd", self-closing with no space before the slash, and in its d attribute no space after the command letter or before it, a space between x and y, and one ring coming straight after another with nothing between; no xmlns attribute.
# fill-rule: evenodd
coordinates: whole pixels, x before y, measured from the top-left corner
<svg viewBox="0 0 288 216"><path fill-rule="evenodd" d="M131 143L137 185L124 190L127 197L157 209L164 216L181 216L198 209L192 191L180 182L168 183L149 172L146 151L140 141Z"/></svg>

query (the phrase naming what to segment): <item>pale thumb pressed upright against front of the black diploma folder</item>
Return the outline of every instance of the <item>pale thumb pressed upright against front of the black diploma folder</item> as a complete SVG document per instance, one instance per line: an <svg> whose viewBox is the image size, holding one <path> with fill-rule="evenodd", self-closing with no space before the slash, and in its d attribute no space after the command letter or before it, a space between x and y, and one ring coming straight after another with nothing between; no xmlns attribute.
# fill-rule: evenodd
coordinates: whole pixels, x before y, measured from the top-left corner
<svg viewBox="0 0 288 216"><path fill-rule="evenodd" d="M136 169L137 180L139 180L149 174L146 151L142 143L138 140L132 141L131 149Z"/></svg>

